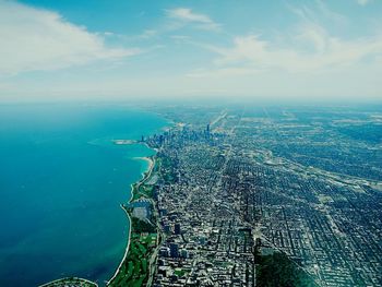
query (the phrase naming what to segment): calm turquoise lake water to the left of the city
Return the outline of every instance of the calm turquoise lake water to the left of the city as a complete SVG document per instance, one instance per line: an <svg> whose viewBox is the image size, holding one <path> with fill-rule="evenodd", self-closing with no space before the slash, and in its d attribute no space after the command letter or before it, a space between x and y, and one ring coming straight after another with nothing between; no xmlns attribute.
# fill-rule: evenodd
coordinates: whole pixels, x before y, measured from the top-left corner
<svg viewBox="0 0 382 287"><path fill-rule="evenodd" d="M140 139L167 122L114 105L0 106L0 286L62 276L110 278L128 220L119 204L154 152Z"/></svg>

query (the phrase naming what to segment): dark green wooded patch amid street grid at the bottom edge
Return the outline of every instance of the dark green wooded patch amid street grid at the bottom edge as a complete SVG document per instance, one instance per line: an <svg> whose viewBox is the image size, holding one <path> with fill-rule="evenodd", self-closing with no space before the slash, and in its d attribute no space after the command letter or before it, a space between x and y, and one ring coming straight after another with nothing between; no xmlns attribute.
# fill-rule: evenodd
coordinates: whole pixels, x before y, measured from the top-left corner
<svg viewBox="0 0 382 287"><path fill-rule="evenodd" d="M258 258L256 286L260 287L318 287L303 270L284 253Z"/></svg>

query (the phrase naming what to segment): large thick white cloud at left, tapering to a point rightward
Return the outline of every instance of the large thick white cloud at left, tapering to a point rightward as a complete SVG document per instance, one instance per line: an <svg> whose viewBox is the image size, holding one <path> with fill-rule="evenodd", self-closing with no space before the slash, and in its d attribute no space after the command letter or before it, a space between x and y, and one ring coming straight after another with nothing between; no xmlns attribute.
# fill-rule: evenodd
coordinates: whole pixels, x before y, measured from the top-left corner
<svg viewBox="0 0 382 287"><path fill-rule="evenodd" d="M71 24L56 12L5 0L0 0L0 74L57 70L139 52L108 48L100 34Z"/></svg>

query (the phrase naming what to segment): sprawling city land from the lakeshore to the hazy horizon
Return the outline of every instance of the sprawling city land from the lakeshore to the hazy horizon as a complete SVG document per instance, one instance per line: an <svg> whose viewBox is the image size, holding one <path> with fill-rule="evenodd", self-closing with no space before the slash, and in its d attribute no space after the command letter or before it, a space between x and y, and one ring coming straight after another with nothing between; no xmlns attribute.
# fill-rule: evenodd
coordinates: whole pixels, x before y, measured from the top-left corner
<svg viewBox="0 0 382 287"><path fill-rule="evenodd" d="M111 286L382 284L381 112L194 110L159 110L175 127L144 139L156 168L127 207L152 225L132 225L148 266Z"/></svg>

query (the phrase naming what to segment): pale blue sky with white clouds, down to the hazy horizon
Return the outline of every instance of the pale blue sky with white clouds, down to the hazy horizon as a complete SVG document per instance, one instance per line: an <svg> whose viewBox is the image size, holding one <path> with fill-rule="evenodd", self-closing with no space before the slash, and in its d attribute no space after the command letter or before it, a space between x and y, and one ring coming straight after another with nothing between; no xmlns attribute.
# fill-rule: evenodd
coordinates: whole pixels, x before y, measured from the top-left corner
<svg viewBox="0 0 382 287"><path fill-rule="evenodd" d="M0 101L382 100L382 0L0 0Z"/></svg>

